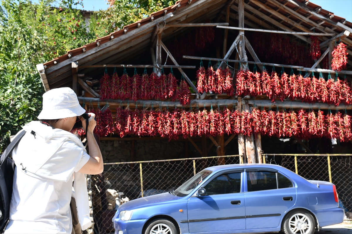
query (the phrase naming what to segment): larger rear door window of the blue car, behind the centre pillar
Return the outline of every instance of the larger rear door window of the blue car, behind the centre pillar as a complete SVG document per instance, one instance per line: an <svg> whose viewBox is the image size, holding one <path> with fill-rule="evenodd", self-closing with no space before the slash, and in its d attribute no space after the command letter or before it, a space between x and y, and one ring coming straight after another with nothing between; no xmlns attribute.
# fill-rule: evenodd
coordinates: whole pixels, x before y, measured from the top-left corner
<svg viewBox="0 0 352 234"><path fill-rule="evenodd" d="M247 191L277 189L276 172L255 171L247 173Z"/></svg>

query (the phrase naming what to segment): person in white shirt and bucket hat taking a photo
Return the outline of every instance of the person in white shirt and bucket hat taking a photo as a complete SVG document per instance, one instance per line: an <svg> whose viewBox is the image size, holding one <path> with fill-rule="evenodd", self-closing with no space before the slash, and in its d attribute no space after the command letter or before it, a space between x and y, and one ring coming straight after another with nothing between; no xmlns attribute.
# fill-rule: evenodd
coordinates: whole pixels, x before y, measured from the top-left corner
<svg viewBox="0 0 352 234"><path fill-rule="evenodd" d="M70 88L52 89L43 94L40 121L23 127L26 134L12 152L16 167L6 234L70 234L72 195L82 230L90 226L84 174L102 173L103 160L93 136L95 115L88 113L89 124L85 129L86 120L81 117L85 112ZM87 133L89 155L80 139L70 133L77 116Z"/></svg>

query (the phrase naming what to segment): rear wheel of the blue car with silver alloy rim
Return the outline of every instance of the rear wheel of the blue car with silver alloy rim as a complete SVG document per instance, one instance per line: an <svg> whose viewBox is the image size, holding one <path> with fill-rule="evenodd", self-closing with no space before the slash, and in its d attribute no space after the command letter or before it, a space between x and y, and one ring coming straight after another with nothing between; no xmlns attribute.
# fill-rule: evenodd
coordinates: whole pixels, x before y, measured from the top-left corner
<svg viewBox="0 0 352 234"><path fill-rule="evenodd" d="M285 234L313 234L315 219L307 210L292 210L286 215L282 229Z"/></svg>

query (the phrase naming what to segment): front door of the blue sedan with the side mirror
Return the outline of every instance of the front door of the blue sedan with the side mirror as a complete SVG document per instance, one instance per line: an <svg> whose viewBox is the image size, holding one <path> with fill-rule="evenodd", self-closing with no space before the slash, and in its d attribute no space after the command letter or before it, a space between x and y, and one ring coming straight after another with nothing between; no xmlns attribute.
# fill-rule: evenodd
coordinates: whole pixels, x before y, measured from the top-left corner
<svg viewBox="0 0 352 234"><path fill-rule="evenodd" d="M244 173L240 171L216 175L202 186L207 192L205 196L193 195L189 198L187 211L190 233L246 228L243 176Z"/></svg>

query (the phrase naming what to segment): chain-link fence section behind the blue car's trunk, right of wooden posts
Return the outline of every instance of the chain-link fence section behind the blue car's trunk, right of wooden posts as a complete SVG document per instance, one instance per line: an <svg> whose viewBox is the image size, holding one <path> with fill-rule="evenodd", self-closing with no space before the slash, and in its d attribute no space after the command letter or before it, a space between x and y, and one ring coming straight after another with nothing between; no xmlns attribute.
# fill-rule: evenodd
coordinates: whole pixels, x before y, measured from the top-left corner
<svg viewBox="0 0 352 234"><path fill-rule="evenodd" d="M265 154L265 162L281 165L308 180L336 185L340 207L352 211L352 154Z"/></svg>

